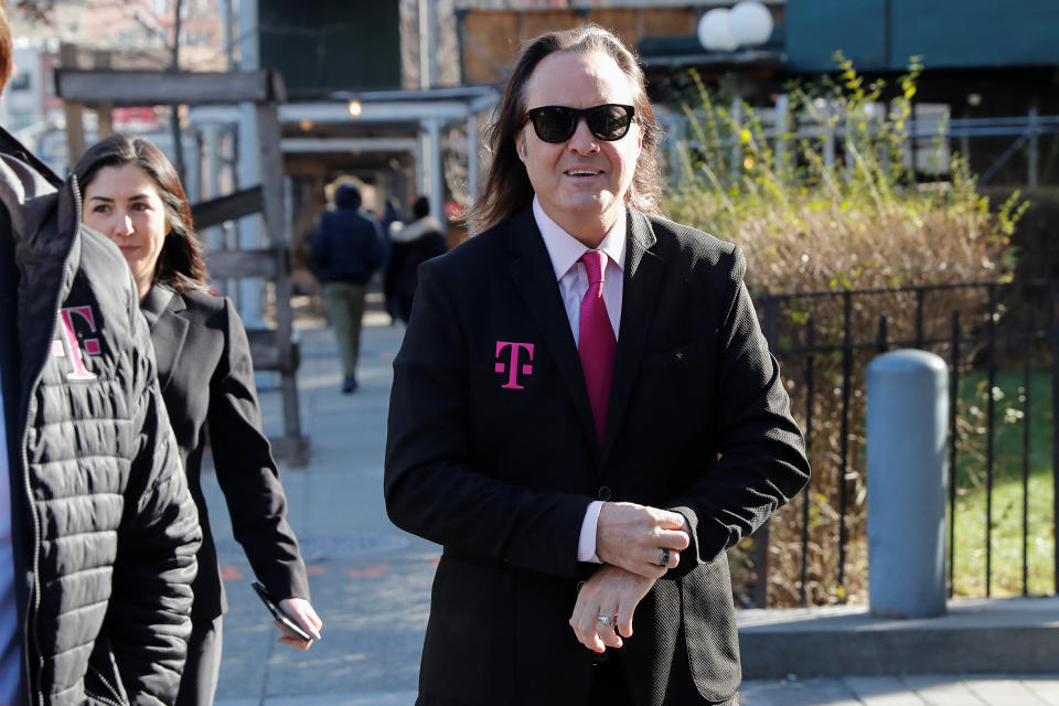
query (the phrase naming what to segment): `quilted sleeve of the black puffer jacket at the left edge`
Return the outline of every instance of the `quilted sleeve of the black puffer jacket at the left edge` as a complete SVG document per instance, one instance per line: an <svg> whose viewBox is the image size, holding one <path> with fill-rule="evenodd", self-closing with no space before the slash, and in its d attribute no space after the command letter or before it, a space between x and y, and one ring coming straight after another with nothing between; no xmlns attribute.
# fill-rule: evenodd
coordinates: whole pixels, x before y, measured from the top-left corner
<svg viewBox="0 0 1059 706"><path fill-rule="evenodd" d="M147 323L135 297L129 303L137 445L107 621L131 703L158 706L176 699L191 634L191 582L202 530L158 388Z"/></svg>

